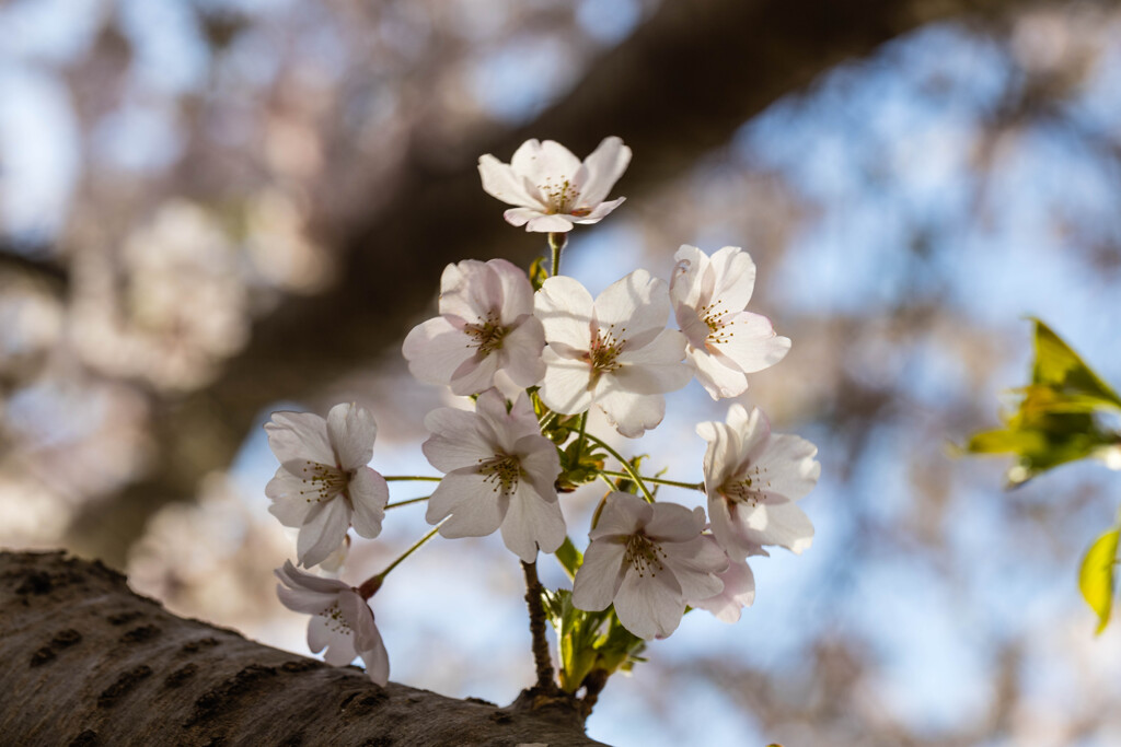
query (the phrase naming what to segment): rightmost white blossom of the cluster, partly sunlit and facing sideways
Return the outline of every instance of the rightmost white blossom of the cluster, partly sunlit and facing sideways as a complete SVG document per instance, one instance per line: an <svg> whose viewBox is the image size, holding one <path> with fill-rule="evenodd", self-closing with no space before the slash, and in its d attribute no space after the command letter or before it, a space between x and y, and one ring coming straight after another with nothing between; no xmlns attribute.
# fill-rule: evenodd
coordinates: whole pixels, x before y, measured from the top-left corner
<svg viewBox="0 0 1121 747"><path fill-rule="evenodd" d="M704 485L712 533L733 560L759 553L759 545L778 544L800 553L814 539L814 525L795 501L821 475L817 447L797 436L771 435L758 409L741 404L728 411L728 422L703 422L697 435L708 441Z"/></svg>

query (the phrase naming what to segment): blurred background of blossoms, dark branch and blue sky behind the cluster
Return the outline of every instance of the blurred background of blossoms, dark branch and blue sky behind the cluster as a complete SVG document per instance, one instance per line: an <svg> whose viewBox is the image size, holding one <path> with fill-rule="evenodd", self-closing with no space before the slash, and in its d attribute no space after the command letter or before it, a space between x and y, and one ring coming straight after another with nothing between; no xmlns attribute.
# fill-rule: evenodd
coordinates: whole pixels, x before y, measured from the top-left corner
<svg viewBox="0 0 1121 747"><path fill-rule="evenodd" d="M1076 583L1121 482L1080 464L1006 493L1007 461L948 448L1026 381L1025 315L1121 383L1115 3L8 0L0 40L0 545L104 558L306 653L261 423L355 400L376 469L434 474L421 420L451 399L400 340L445 263L546 249L478 157L618 134L628 200L567 272L597 291L668 277L682 243L748 249L751 308L794 348L742 401L823 469L814 547L752 561L739 624L655 642L590 735L1121 744L1121 627L1095 638ZM694 383L613 442L697 480L694 423L726 405ZM574 536L599 497L564 497ZM344 578L425 527L391 512ZM373 599L393 680L512 700L521 594L497 536L426 547Z"/></svg>

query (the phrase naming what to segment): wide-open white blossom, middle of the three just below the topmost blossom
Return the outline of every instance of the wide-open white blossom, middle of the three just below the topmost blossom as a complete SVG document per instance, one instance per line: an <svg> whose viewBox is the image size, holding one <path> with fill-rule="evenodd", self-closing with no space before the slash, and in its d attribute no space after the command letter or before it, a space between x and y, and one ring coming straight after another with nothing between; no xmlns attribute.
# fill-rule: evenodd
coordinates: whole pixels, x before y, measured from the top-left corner
<svg viewBox="0 0 1121 747"><path fill-rule="evenodd" d="M549 278L535 301L548 347L539 396L550 410L576 414L593 403L619 432L641 436L666 414L666 392L688 383L685 336L666 329L666 283L636 270L595 301L576 280Z"/></svg>

